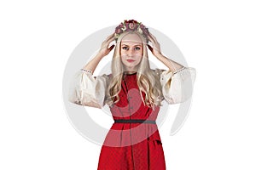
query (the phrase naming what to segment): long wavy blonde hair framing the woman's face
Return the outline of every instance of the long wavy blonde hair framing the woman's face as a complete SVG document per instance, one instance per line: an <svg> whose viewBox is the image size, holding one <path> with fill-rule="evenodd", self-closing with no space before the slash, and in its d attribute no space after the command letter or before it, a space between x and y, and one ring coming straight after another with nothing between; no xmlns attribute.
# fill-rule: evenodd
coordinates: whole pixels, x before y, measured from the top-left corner
<svg viewBox="0 0 256 170"><path fill-rule="evenodd" d="M154 106L161 105L162 93L160 80L156 73L150 69L146 39L137 31L126 31L121 34L117 40L111 65L112 78L107 89L107 104L113 105L119 101L119 92L121 90L121 82L125 71L124 65L121 61L120 46L123 37L131 33L137 34L143 41L143 57L141 62L138 64L137 69L137 86L139 88L143 104L154 109ZM143 93L145 94L145 100L143 99Z"/></svg>

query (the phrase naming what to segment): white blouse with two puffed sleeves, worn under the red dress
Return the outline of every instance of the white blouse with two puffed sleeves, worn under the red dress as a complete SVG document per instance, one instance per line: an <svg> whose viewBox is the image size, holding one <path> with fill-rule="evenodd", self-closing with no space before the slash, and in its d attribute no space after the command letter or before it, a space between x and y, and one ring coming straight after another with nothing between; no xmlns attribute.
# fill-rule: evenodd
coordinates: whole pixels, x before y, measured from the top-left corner
<svg viewBox="0 0 256 170"><path fill-rule="evenodd" d="M189 99L193 92L195 82L195 68L183 67L183 69L172 73L172 71L153 70L160 78L162 94L168 104L182 103ZM78 71L71 82L68 100L78 105L88 105L102 108L105 103L105 94L109 77L106 74L93 77L87 71Z"/></svg>

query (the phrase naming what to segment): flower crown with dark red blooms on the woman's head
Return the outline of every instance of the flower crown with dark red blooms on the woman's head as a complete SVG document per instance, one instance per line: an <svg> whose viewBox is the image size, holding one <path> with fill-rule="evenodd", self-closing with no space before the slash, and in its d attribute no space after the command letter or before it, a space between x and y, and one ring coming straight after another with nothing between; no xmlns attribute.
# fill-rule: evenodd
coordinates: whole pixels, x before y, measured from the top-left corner
<svg viewBox="0 0 256 170"><path fill-rule="evenodd" d="M119 26L115 28L114 37L118 39L120 34L125 31L139 32L143 35L143 37L146 38L146 41L148 43L149 31L148 28L144 26L141 22L137 22L137 20L124 20L124 22L121 22Z"/></svg>

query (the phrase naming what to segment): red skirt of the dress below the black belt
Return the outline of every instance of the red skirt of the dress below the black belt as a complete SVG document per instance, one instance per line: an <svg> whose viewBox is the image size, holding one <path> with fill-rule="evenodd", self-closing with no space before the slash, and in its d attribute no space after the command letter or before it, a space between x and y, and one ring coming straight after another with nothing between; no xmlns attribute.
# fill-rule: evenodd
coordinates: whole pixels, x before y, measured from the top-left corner
<svg viewBox="0 0 256 170"><path fill-rule="evenodd" d="M130 131L129 128L131 126L133 126L133 129L138 128L135 131ZM112 133L113 129L119 128L122 130ZM127 134L122 132L125 129L128 129ZM143 135L145 132L152 134L147 137ZM141 133L143 134L140 135ZM132 139L134 141L131 141ZM165 170L166 161L157 125L146 123L140 125L138 123L113 123L102 145L97 169Z"/></svg>

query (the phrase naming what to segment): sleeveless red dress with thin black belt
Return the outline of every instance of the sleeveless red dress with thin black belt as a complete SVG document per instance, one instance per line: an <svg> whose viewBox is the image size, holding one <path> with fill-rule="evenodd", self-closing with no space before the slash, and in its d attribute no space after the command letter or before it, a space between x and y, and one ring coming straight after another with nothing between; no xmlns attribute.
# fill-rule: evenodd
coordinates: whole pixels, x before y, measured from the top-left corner
<svg viewBox="0 0 256 170"><path fill-rule="evenodd" d="M113 119L155 121L160 107L143 105L137 74L125 75L119 102L110 108ZM145 94L143 94L143 99ZM99 156L98 170L164 170L166 161L158 127L154 123L114 122Z"/></svg>

